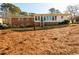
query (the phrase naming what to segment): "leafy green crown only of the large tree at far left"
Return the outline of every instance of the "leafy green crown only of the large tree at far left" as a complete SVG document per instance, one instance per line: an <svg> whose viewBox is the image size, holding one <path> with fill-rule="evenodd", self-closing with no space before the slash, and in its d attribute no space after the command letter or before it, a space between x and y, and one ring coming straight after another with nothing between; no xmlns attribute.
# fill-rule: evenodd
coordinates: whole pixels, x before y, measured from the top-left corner
<svg viewBox="0 0 79 59"><path fill-rule="evenodd" d="M21 12L19 7L15 6L14 4L10 4L10 3L1 4L1 10L5 12L5 14L8 12L8 13L11 13L12 15L15 15L16 13Z"/></svg>

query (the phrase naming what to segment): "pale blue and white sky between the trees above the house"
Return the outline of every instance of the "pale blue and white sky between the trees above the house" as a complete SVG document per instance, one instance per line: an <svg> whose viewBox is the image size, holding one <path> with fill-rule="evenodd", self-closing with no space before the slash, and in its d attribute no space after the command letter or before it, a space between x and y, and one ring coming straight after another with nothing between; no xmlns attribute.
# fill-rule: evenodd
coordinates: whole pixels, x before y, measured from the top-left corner
<svg viewBox="0 0 79 59"><path fill-rule="evenodd" d="M15 5L20 7L22 11L32 13L49 13L50 8L59 9L63 12L66 8L54 3L17 3Z"/></svg>

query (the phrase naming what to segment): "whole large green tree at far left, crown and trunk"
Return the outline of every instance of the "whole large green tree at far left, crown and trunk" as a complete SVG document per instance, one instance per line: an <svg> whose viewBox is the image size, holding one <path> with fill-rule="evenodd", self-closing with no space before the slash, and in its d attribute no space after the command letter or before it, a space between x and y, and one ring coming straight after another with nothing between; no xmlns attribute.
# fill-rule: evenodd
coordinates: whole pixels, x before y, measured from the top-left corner
<svg viewBox="0 0 79 59"><path fill-rule="evenodd" d="M10 19L11 16L16 15L21 12L20 8L11 3L2 3L1 10L3 11L4 23L7 23L7 19Z"/></svg>

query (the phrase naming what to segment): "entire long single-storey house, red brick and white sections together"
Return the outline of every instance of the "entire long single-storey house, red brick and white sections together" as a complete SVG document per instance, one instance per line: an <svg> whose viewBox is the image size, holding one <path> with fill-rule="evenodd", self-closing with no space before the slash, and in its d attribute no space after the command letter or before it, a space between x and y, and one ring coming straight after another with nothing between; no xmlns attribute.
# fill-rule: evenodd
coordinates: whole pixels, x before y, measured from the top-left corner
<svg viewBox="0 0 79 59"><path fill-rule="evenodd" d="M48 26L68 20L70 14L33 14L29 16L12 16L8 20L11 26Z"/></svg>

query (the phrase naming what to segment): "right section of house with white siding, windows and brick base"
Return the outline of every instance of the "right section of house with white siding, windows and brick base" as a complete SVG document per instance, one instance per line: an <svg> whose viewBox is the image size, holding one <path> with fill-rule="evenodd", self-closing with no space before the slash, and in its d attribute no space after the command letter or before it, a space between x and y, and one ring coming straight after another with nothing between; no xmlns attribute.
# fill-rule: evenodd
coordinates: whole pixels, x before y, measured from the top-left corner
<svg viewBox="0 0 79 59"><path fill-rule="evenodd" d="M36 26L47 26L68 20L70 14L34 14Z"/></svg>

